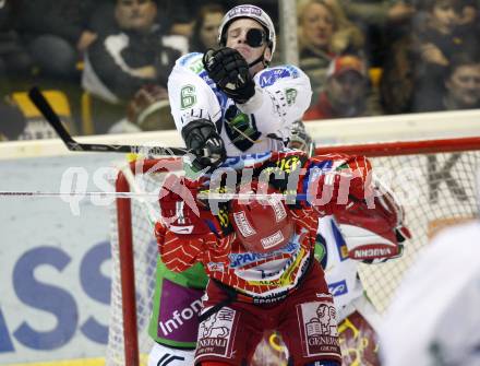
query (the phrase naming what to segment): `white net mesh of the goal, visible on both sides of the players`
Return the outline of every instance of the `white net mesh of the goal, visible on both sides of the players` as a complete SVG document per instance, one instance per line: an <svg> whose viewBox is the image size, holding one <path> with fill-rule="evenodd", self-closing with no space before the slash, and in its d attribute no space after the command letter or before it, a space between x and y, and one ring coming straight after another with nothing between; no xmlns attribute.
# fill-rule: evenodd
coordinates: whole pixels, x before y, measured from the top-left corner
<svg viewBox="0 0 480 366"><path fill-rule="evenodd" d="M361 278L369 296L379 311L388 306L401 274L415 260L421 247L444 225L473 217L478 212L476 199L476 172L480 167L480 152L417 154L371 158L381 180L389 186L404 203L406 225L413 235L403 258L361 267ZM147 192L158 190L161 178L155 175L142 179ZM157 203L153 203L157 208ZM147 334L152 295L155 285L156 244L152 225L146 219L145 203L132 200L131 226L135 257L135 286L139 349L141 361L152 341ZM122 223L130 225L128 222ZM121 284L117 212L112 215L113 281L107 365L124 365Z"/></svg>

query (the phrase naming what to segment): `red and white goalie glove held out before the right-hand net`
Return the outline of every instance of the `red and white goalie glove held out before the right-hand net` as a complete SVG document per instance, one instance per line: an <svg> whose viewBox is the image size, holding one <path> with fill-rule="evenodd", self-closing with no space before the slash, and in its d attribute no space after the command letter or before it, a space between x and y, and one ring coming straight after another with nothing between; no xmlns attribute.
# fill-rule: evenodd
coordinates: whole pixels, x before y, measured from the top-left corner
<svg viewBox="0 0 480 366"><path fill-rule="evenodd" d="M383 262L401 256L411 235L403 224L404 211L389 192L379 192L335 214L351 259Z"/></svg>

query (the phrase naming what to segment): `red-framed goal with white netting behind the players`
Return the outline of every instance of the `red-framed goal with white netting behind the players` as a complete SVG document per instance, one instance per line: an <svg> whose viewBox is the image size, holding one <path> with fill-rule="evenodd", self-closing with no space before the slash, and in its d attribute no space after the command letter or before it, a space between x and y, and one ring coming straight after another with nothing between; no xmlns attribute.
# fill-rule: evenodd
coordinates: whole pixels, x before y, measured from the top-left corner
<svg viewBox="0 0 480 366"><path fill-rule="evenodd" d="M316 153L345 152L371 157L376 176L404 205L412 239L404 256L382 264L362 264L360 276L379 312L384 312L405 270L430 238L446 225L471 220L478 212L477 170L480 138L423 142L331 146ZM144 200L118 199L112 213L112 292L107 365L146 364L147 334L155 286L157 246L152 221L158 214L155 193L165 172L181 174L175 158L132 164L119 174L117 191L153 193Z"/></svg>

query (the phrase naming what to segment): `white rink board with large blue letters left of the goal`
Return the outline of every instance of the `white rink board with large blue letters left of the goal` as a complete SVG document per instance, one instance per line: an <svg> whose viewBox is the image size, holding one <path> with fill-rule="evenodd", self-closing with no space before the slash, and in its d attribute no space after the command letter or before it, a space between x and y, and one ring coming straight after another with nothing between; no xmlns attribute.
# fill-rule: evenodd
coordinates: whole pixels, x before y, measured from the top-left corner
<svg viewBox="0 0 480 366"><path fill-rule="evenodd" d="M0 161L0 190L60 190L83 167L88 190L119 154ZM75 205L74 205L75 206ZM83 199L0 198L0 364L104 357L107 342L109 208Z"/></svg>

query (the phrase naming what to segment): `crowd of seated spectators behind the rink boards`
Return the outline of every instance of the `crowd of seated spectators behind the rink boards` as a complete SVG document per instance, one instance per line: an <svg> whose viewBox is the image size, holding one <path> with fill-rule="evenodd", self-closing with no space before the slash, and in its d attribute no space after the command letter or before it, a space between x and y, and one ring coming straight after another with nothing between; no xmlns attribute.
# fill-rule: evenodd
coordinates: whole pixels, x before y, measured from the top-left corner
<svg viewBox="0 0 480 366"><path fill-rule="evenodd" d="M279 26L277 1L248 2ZM11 94L36 83L65 93L81 133L171 128L166 84L176 59L216 47L224 12L239 3L0 0L0 118L22 110ZM314 91L304 119L480 107L479 7L297 0L299 66ZM15 139L19 129L7 130Z"/></svg>

